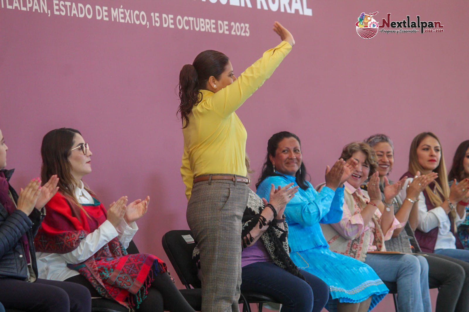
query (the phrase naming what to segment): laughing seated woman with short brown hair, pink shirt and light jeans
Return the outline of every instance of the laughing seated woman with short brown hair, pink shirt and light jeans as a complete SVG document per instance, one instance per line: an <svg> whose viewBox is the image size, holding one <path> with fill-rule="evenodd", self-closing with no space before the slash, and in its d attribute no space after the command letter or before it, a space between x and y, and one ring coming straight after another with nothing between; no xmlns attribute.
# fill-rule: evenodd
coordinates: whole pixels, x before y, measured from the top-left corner
<svg viewBox="0 0 469 312"><path fill-rule="evenodd" d="M340 222L321 226L330 249L364 261L383 281L397 282L400 311L431 312L428 263L423 256L371 253L386 252L385 241L405 224L381 201L375 151L367 143L357 141L346 145L340 157L356 159L358 166L344 184L345 202ZM367 178L370 178L368 192L360 188ZM387 202L399 193L403 182L386 185Z"/></svg>

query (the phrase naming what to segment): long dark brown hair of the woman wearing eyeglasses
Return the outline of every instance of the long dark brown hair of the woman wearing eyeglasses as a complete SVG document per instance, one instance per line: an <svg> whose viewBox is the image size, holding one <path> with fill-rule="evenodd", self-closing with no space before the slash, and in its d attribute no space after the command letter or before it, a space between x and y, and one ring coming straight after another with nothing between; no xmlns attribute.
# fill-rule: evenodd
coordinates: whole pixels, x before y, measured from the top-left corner
<svg viewBox="0 0 469 312"><path fill-rule="evenodd" d="M56 174L59 177L59 192L68 200L75 203L76 206L83 209L82 205L75 198L75 188L77 185L71 174L71 164L68 161L70 149L72 149L74 144L75 134L81 135L78 130L72 128L54 129L45 134L41 145L41 179L45 183ZM86 190L92 193L88 188ZM70 208L74 216L80 219L80 211L74 211L73 207ZM86 212L85 215L87 215Z"/></svg>

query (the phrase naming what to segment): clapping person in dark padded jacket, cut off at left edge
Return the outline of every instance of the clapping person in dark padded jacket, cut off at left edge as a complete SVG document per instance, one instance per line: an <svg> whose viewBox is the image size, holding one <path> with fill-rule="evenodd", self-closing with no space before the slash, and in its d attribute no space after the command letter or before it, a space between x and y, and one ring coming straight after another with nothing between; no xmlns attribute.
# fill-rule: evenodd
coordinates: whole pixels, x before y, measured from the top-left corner
<svg viewBox="0 0 469 312"><path fill-rule="evenodd" d="M90 312L90 292L70 282L38 278L34 235L44 218L44 205L57 192L56 175L41 187L32 179L20 194L6 170L8 147L0 131L0 312L7 309L48 312Z"/></svg>

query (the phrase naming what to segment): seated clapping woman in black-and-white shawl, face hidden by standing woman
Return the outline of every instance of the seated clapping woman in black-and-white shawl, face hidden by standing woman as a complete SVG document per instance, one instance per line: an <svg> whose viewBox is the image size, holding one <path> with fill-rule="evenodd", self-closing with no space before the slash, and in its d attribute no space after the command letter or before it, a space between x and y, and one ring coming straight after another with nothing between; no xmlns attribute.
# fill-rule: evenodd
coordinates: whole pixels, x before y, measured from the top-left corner
<svg viewBox="0 0 469 312"><path fill-rule="evenodd" d="M250 171L249 157L246 167ZM270 201L249 191L242 217L241 291L262 293L282 305L282 312L319 312L329 297L328 286L299 269L290 259L288 225L283 211L295 197L293 183L270 189ZM200 259L198 247L194 260ZM203 276L201 276L203 278Z"/></svg>

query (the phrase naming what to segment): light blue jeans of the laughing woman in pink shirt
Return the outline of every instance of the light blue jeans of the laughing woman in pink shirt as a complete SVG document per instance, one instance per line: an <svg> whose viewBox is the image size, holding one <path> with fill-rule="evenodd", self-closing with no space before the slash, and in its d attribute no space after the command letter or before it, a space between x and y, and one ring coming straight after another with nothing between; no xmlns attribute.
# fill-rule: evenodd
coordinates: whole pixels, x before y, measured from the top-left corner
<svg viewBox="0 0 469 312"><path fill-rule="evenodd" d="M365 263L372 267L383 281L397 283L399 311L431 312L428 263L425 257L368 253Z"/></svg>

